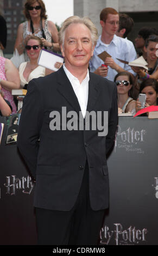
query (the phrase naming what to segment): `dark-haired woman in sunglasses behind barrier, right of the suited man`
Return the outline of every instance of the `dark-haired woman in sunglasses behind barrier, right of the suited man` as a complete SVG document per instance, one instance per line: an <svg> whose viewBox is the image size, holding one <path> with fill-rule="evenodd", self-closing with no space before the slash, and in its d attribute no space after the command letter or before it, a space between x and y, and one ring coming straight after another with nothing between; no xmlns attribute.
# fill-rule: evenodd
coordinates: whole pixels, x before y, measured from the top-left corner
<svg viewBox="0 0 158 256"><path fill-rule="evenodd" d="M135 114L136 101L133 94L132 78L128 72L120 72L115 76L117 86L118 113Z"/></svg>

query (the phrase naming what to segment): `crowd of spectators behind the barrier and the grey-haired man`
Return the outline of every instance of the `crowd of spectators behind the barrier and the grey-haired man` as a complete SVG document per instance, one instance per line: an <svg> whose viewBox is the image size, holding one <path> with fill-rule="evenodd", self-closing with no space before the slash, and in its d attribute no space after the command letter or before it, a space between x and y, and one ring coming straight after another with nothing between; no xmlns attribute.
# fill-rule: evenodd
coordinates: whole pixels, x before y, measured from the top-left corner
<svg viewBox="0 0 158 256"><path fill-rule="evenodd" d="M7 42L7 28L4 18L0 16L0 22L3 24L0 37L0 115L3 116L21 111L22 98L17 101L11 95L12 89L27 89L27 84L33 78L54 72L38 65L41 49L60 51L58 31L54 23L47 19L43 1L27 0L23 13L26 21L18 26L14 56L11 60L2 56ZM139 93L147 96L145 107L157 105L155 98L148 99L151 94L153 97L155 95L156 99L158 96L157 29L141 28L133 43L127 36L134 28L134 21L129 15L119 14L113 8L104 8L100 12L100 25L102 34L94 47L89 69L116 83L118 113L134 115L141 108ZM98 55L103 52L105 56L101 59ZM139 56L147 61L148 70L127 64ZM61 66L62 63L55 64L56 68Z"/></svg>

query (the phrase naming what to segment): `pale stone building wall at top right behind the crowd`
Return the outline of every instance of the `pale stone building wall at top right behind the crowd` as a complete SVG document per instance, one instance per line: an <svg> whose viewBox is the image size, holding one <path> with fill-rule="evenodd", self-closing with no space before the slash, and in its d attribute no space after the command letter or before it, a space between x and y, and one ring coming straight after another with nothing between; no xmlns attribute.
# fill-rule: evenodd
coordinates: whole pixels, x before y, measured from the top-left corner
<svg viewBox="0 0 158 256"><path fill-rule="evenodd" d="M140 28L144 26L158 28L157 0L74 0L74 15L90 17L100 34L102 29L99 15L100 11L106 7L112 7L119 13L126 13L134 19L135 26L129 35L132 41Z"/></svg>

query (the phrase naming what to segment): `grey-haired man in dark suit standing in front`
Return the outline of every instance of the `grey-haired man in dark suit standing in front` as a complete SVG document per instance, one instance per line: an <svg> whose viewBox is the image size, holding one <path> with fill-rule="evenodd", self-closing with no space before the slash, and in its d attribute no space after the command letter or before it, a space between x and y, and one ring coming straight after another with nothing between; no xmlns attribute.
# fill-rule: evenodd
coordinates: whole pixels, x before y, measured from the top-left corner
<svg viewBox="0 0 158 256"><path fill-rule="evenodd" d="M18 148L36 179L38 243L97 245L109 205L106 153L117 126L117 90L113 82L89 74L97 41L90 19L69 17L59 39L65 64L29 83ZM108 118L98 125L104 113ZM104 126L107 136L104 128L99 134Z"/></svg>

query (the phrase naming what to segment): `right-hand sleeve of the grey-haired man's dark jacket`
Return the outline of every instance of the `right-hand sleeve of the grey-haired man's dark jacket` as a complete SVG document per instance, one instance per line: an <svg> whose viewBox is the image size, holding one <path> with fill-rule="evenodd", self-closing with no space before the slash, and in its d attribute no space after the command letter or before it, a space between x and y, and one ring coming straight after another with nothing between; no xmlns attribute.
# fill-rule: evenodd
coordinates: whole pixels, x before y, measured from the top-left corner
<svg viewBox="0 0 158 256"><path fill-rule="evenodd" d="M108 135L106 136L106 154L112 148L115 141L116 128L118 124L117 88L114 86L111 109L108 120Z"/></svg>

